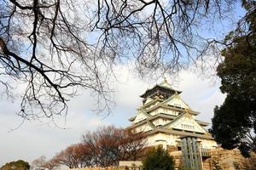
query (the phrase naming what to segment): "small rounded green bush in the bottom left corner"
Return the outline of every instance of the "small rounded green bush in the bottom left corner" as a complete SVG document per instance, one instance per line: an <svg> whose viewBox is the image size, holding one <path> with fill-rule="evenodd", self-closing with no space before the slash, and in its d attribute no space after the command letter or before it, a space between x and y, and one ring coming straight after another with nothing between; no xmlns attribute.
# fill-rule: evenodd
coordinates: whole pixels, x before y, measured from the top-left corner
<svg viewBox="0 0 256 170"><path fill-rule="evenodd" d="M11 161L0 167L0 170L29 170L29 163L23 160Z"/></svg>

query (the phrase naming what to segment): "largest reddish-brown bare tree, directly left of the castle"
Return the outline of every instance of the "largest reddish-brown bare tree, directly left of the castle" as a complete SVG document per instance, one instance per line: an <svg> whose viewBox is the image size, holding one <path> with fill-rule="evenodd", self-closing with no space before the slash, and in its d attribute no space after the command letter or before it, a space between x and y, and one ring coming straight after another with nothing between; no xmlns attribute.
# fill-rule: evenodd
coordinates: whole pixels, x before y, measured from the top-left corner
<svg viewBox="0 0 256 170"><path fill-rule="evenodd" d="M90 149L93 165L99 167L116 166L122 160L135 161L145 147L143 135L113 126L85 133L83 143Z"/></svg>

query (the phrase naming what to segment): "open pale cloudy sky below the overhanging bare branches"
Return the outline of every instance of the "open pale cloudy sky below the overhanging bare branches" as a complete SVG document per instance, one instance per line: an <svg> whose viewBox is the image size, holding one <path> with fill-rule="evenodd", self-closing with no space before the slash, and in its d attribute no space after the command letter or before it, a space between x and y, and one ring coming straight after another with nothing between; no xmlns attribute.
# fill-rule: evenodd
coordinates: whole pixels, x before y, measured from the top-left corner
<svg viewBox="0 0 256 170"><path fill-rule="evenodd" d="M128 118L135 116L137 107L142 105L139 95L156 82L163 81L163 77L156 82L143 81L131 73L127 65L119 66L117 72L118 82L113 82L116 87L115 107L111 114L91 111L95 105L85 91L70 101L67 116L56 120L61 128L40 122L24 122L12 131L22 121L20 116L15 115L19 111L19 103L0 100L0 167L20 159L28 162L39 156L49 159L68 145L79 143L84 132L99 126L129 126ZM221 105L225 96L219 91L216 77L203 79L196 72L183 70L178 76L168 76L167 80L173 88L183 91L181 97L193 110L201 112L198 119L211 122L214 106Z"/></svg>

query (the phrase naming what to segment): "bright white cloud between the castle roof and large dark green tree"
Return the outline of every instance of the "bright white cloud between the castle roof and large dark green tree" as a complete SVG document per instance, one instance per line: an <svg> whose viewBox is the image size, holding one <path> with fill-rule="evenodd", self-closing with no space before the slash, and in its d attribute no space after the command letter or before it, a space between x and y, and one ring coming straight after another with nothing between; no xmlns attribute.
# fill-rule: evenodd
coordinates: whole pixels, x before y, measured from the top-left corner
<svg viewBox="0 0 256 170"><path fill-rule="evenodd" d="M198 119L211 122L213 108L224 102L225 95L219 90L218 79L212 83L212 79L202 79L191 71L182 71L179 88L183 90L183 100L194 111L200 111Z"/></svg>

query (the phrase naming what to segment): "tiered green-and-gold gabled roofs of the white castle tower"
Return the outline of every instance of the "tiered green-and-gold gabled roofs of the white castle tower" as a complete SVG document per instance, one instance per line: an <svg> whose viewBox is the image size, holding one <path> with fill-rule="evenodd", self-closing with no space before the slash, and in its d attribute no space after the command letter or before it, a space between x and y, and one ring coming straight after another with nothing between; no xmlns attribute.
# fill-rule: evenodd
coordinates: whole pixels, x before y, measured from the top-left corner
<svg viewBox="0 0 256 170"><path fill-rule="evenodd" d="M189 105L181 99L179 96L181 93L181 91L172 88L166 79L160 82L160 84L156 84L153 88L147 89L146 92L141 95L143 105L137 109L137 116L133 116L129 119L129 121L132 122L130 128L147 124L147 126L151 128L151 130L147 132L148 134L161 132L212 139L212 136L204 128L209 125L209 123L201 122L194 118L199 112L193 111ZM172 115L168 111L172 113L175 112L176 114ZM168 120L168 122L160 126L155 126L153 122L159 118ZM187 124L183 122L187 122ZM188 123L190 123L191 126L188 125ZM191 129L188 129L188 127L191 127Z"/></svg>

